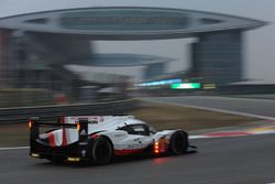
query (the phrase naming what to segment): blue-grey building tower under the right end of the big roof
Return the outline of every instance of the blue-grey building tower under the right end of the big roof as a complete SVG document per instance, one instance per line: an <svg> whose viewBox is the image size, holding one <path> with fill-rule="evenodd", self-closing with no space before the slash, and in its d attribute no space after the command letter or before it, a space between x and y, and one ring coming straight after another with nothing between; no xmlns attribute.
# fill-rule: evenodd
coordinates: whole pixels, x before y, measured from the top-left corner
<svg viewBox="0 0 275 184"><path fill-rule="evenodd" d="M242 33L204 33L193 45L193 73L205 83L226 85L242 79Z"/></svg>

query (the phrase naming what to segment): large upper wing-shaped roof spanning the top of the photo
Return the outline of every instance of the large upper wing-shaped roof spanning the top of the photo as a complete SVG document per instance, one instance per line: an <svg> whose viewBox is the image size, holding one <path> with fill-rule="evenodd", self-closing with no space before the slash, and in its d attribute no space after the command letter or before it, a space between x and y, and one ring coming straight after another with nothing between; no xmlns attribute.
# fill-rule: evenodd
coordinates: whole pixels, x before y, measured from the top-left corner
<svg viewBox="0 0 275 184"><path fill-rule="evenodd" d="M100 7L19 14L0 19L0 28L74 34L97 40L154 40L204 32L249 30L266 22L183 9Z"/></svg>

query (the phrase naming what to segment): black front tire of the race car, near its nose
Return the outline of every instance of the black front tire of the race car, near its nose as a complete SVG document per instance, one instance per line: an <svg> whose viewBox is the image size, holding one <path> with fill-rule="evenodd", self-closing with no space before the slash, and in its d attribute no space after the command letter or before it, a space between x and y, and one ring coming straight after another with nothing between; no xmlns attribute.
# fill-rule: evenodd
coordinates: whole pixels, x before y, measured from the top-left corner
<svg viewBox="0 0 275 184"><path fill-rule="evenodd" d="M172 154L184 154L188 148L188 136L184 131L175 132L170 138L170 153Z"/></svg>

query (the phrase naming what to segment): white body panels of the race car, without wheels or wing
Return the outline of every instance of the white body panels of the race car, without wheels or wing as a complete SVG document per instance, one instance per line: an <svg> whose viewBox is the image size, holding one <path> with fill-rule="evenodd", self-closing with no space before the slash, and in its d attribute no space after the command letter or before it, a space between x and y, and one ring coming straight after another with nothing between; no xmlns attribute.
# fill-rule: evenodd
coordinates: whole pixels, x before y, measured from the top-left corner
<svg viewBox="0 0 275 184"><path fill-rule="evenodd" d="M79 118L88 118L88 134L105 136L110 139L114 151L142 150L153 145L155 141L163 138L169 141L170 136L177 130L165 130L150 132L150 134L131 134L124 130L119 130L127 126L141 126L150 129L150 126L132 116L88 116L88 117L65 117L64 123L75 125ZM81 133L81 132L80 132ZM75 128L63 128L48 133L43 133L40 138L48 138L51 147L62 147L77 142L79 132Z"/></svg>

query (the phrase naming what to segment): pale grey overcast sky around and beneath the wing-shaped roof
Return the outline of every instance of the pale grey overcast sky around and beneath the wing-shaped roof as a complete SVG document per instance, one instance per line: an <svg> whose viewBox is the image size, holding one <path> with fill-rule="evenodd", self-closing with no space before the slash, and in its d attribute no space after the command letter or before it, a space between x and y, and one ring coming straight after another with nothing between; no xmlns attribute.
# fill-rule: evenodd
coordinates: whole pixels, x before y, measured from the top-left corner
<svg viewBox="0 0 275 184"><path fill-rule="evenodd" d="M248 17L270 22L268 25L245 33L245 77L265 79L275 83L275 0L0 0L0 17L54 9L81 7L166 7L211 11ZM188 67L188 40L139 41L139 42L97 42L99 53L136 53L163 55L176 58L168 71ZM113 69L117 73L131 71L138 75L141 71Z"/></svg>

